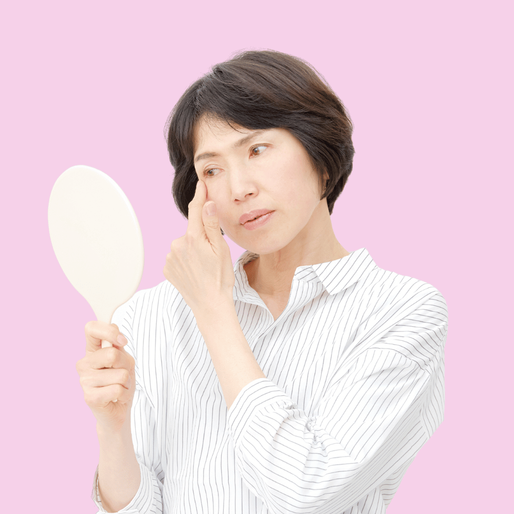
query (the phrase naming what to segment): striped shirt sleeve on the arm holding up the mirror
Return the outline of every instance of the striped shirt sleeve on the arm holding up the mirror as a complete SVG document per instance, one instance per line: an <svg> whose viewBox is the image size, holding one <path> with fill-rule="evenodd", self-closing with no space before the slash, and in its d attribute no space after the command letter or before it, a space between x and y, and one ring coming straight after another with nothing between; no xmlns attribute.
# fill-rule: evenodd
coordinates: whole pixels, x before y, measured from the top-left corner
<svg viewBox="0 0 514 514"><path fill-rule="evenodd" d="M126 336L128 344L125 351L136 359L135 341L133 338L133 315L137 295L134 295L124 305L120 306L113 315L112 322L120 328L120 332ZM141 472L141 482L132 501L118 512L124 514L162 514L162 488L164 473L161 469L160 452L154 442L158 440L155 414L152 402L146 396L141 387L141 379L136 359L136 390L131 409L132 442L136 459ZM157 476L162 477L161 480ZM107 512L102 506L98 491L98 466L93 481L91 499L95 502L98 512Z"/></svg>

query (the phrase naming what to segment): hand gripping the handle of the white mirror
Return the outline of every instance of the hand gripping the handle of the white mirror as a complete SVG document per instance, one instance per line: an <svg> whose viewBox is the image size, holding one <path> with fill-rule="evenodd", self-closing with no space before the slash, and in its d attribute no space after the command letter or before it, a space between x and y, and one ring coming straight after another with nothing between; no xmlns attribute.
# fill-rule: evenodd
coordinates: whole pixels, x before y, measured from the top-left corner
<svg viewBox="0 0 514 514"><path fill-rule="evenodd" d="M89 321L85 334L86 355L76 365L84 400L97 419L97 429L119 432L130 419L136 390L134 357L125 351L127 340L114 323ZM102 339L113 346L102 348Z"/></svg>

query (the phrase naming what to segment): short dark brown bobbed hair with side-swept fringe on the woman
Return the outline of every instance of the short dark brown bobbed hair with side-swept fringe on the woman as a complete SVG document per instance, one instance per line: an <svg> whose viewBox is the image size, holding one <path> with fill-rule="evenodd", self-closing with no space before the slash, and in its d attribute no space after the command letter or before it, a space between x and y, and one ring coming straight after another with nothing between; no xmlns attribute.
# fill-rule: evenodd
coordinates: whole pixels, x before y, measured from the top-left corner
<svg viewBox="0 0 514 514"><path fill-rule="evenodd" d="M328 212L352 172L353 124L343 103L306 61L274 50L247 50L212 66L173 107L164 134L175 169L173 199L187 218L198 177L195 129L202 116L248 130L285 128L307 151ZM324 182L325 172L328 180ZM223 234L223 230L222 230Z"/></svg>

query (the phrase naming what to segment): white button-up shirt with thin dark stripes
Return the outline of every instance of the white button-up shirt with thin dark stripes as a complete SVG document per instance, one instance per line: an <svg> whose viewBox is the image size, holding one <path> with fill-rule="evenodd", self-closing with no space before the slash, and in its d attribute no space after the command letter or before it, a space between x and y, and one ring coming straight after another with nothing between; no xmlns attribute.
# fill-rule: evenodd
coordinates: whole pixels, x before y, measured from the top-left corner
<svg viewBox="0 0 514 514"><path fill-rule="evenodd" d="M113 323L136 361L141 483L119 512L378 514L443 421L447 307L365 248L299 266L274 321L234 265L234 306L267 378L230 410L194 315L164 281ZM91 498L101 506L97 473ZM120 478L122 480L122 478Z"/></svg>

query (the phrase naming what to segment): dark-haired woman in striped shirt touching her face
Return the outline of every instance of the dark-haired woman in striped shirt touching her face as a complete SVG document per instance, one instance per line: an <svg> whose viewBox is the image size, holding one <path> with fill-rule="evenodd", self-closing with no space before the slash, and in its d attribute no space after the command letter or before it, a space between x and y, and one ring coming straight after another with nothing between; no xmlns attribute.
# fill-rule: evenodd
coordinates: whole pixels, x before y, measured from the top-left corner
<svg viewBox="0 0 514 514"><path fill-rule="evenodd" d="M447 309L337 241L351 133L332 89L274 51L216 65L174 107L186 234L164 282L86 325L77 363L100 511L386 510L443 420ZM247 249L235 266L223 234Z"/></svg>

